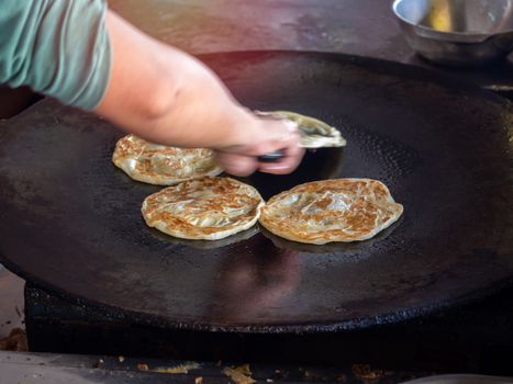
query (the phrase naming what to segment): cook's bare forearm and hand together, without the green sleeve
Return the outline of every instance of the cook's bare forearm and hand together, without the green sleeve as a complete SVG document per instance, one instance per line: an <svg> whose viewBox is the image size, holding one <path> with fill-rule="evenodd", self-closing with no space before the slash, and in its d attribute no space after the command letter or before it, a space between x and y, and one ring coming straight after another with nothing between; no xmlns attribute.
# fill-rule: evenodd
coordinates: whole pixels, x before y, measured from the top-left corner
<svg viewBox="0 0 513 384"><path fill-rule="evenodd" d="M152 142L213 148L231 173L286 173L297 167L303 154L297 127L256 117L203 64L113 12L107 27L113 59L98 113ZM257 156L283 148L282 162L257 162Z"/></svg>

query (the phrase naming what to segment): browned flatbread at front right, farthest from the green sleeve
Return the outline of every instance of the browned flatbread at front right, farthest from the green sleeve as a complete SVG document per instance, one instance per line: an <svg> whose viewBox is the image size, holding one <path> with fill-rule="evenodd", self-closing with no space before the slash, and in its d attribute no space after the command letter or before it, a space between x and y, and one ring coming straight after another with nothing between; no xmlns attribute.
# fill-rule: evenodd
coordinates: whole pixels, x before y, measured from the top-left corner
<svg viewBox="0 0 513 384"><path fill-rule="evenodd" d="M289 240L326 244L366 240L395 222L403 206L371 179L335 179L297 185L272 196L259 222Z"/></svg>

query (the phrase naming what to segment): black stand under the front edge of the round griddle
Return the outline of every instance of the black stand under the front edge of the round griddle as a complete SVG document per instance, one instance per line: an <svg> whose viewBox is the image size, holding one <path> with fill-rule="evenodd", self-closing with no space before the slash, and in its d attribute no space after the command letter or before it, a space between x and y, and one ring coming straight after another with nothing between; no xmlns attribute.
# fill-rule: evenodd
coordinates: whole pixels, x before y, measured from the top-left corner
<svg viewBox="0 0 513 384"><path fill-rule="evenodd" d="M34 352L513 375L512 296L510 287L443 314L352 332L243 335L142 326L26 283L25 321Z"/></svg>

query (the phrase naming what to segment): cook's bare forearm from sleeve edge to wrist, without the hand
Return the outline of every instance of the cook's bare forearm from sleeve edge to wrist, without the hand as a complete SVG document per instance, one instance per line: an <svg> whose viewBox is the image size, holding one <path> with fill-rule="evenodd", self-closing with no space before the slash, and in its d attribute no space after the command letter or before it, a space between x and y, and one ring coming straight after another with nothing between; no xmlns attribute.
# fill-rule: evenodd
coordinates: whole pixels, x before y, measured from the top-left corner
<svg viewBox="0 0 513 384"><path fill-rule="evenodd" d="M112 12L107 27L112 68L98 113L163 144L216 148L242 142L239 125L250 129L254 117L203 65Z"/></svg>

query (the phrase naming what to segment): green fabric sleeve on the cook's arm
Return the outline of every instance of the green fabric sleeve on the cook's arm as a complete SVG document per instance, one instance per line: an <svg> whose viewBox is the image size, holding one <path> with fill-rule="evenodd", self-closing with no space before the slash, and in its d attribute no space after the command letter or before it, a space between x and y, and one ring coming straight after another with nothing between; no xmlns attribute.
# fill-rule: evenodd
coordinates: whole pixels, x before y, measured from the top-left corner
<svg viewBox="0 0 513 384"><path fill-rule="evenodd" d="M105 12L104 0L0 0L0 83L93 109L110 76Z"/></svg>

